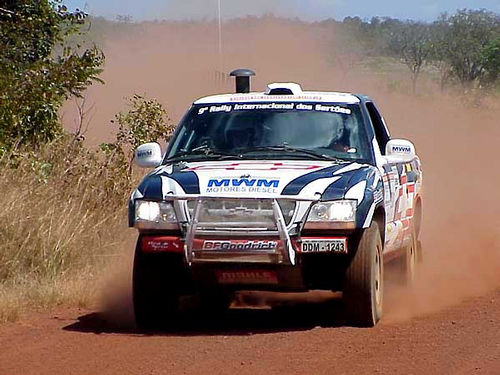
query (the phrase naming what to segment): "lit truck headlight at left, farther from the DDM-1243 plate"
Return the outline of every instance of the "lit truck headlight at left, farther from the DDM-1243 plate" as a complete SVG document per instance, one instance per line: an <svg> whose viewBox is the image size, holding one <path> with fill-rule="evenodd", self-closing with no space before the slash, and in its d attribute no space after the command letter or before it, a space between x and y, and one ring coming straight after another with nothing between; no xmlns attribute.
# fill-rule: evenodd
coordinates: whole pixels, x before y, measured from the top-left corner
<svg viewBox="0 0 500 375"><path fill-rule="evenodd" d="M136 201L135 226L142 229L177 229L177 217L172 203Z"/></svg>

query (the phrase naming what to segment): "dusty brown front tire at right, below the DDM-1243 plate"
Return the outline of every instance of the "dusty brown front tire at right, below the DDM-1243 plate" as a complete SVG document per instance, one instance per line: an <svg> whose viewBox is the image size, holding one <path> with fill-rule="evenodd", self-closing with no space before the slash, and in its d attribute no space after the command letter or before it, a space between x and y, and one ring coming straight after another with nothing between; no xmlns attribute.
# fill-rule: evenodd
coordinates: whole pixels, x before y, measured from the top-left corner
<svg viewBox="0 0 500 375"><path fill-rule="evenodd" d="M377 222L363 232L356 254L346 271L344 301L348 320L355 326L373 327L382 317L384 264Z"/></svg>

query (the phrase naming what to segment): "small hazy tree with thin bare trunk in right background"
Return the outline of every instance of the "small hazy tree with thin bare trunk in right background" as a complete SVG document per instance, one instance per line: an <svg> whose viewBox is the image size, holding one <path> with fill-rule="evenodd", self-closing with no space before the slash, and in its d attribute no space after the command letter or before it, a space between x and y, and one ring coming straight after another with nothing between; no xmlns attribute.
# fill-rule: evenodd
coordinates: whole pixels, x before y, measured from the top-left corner
<svg viewBox="0 0 500 375"><path fill-rule="evenodd" d="M417 91L417 80L422 67L432 52L432 39L429 26L420 22L409 21L392 29L389 47L410 69L412 91Z"/></svg>

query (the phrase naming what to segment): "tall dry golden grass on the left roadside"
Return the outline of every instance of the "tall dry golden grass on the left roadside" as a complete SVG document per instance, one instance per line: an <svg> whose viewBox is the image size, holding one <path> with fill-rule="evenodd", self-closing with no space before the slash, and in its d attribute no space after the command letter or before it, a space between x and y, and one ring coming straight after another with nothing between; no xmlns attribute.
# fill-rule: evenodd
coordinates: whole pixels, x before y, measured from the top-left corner
<svg viewBox="0 0 500 375"><path fill-rule="evenodd" d="M109 163L68 139L0 161L0 322L95 301L102 270L130 237L132 183Z"/></svg>

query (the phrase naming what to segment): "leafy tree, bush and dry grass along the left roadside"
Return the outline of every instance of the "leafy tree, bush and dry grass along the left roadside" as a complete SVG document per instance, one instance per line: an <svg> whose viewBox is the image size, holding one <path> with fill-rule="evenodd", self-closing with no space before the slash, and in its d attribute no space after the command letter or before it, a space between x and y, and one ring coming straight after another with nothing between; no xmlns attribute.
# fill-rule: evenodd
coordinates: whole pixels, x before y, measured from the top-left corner
<svg viewBox="0 0 500 375"><path fill-rule="evenodd" d="M26 308L86 305L103 267L119 255L134 181L132 149L165 139L162 105L134 95L112 121L116 139L88 149L85 108L68 134L59 110L102 84L104 55L82 38L86 15L58 1L0 9L0 322Z"/></svg>

